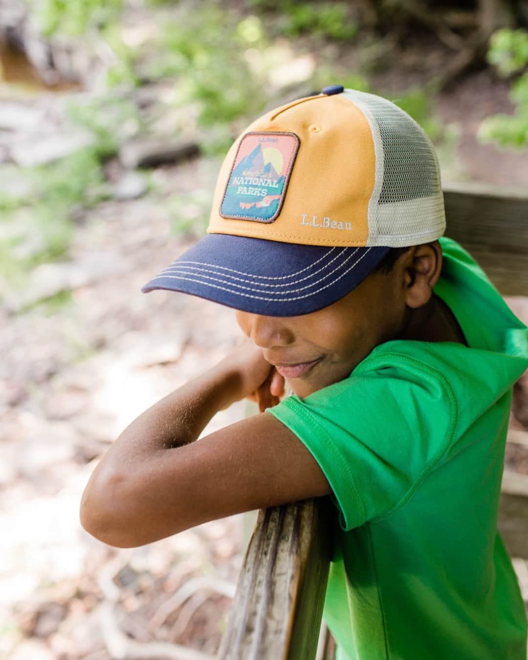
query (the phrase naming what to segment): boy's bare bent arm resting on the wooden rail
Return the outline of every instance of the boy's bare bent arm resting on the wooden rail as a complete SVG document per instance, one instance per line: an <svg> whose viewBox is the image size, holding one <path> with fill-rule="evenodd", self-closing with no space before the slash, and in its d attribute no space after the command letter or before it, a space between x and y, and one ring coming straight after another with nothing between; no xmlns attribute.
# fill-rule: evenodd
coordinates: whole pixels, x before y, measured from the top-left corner
<svg viewBox="0 0 528 660"><path fill-rule="evenodd" d="M312 454L270 414L194 442L219 410L262 393L270 373L259 349L240 348L141 414L94 470L83 527L110 545L138 546L232 513L329 494Z"/></svg>

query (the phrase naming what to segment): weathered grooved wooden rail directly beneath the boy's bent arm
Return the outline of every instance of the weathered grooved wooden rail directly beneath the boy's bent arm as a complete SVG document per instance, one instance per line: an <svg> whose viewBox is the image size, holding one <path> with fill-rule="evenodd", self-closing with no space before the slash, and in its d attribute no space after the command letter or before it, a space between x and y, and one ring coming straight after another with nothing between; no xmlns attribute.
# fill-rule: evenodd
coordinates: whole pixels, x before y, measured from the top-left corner
<svg viewBox="0 0 528 660"><path fill-rule="evenodd" d="M259 512L220 660L313 660L331 552L328 498Z"/></svg>

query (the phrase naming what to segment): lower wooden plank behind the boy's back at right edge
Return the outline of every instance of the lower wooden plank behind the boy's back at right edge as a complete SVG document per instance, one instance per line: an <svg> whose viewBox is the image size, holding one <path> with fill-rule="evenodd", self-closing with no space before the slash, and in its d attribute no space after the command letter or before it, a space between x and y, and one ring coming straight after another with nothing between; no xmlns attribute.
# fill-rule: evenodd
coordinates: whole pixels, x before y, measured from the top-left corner
<svg viewBox="0 0 528 660"><path fill-rule="evenodd" d="M528 476L505 470L499 504L499 531L512 557L528 559Z"/></svg>

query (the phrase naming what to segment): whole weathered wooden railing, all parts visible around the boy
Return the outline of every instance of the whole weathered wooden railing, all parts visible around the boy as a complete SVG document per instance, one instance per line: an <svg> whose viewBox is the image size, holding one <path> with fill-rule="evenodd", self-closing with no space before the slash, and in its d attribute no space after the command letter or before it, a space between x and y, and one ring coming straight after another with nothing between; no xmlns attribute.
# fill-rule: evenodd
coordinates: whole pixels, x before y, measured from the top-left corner
<svg viewBox="0 0 528 660"><path fill-rule="evenodd" d="M528 191L444 185L447 236L468 249L504 295L528 296ZM528 446L528 433L512 442ZM259 512L240 572L221 660L330 660L319 636L331 556L328 498ZM528 560L528 476L505 471L499 529ZM318 647L319 640L319 649Z"/></svg>

